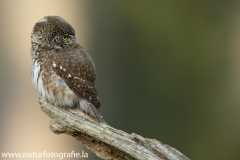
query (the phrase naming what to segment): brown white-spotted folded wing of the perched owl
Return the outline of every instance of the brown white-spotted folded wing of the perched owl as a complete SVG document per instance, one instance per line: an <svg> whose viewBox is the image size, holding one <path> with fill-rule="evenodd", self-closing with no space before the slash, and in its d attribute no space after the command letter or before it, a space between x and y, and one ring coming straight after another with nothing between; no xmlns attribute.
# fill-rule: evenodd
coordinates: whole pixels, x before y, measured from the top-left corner
<svg viewBox="0 0 240 160"><path fill-rule="evenodd" d="M52 69L79 97L84 97L97 109L101 107L94 86L95 66L88 53L80 45L75 49L51 50L48 54Z"/></svg>

